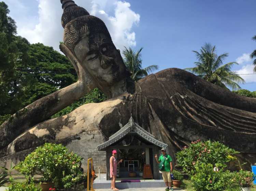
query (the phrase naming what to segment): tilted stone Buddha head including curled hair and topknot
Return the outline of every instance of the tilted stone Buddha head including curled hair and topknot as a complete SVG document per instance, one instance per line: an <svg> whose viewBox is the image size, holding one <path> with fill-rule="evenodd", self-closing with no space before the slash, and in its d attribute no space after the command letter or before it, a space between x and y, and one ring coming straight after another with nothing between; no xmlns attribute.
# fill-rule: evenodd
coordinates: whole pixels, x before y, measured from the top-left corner
<svg viewBox="0 0 256 191"><path fill-rule="evenodd" d="M104 92L104 88L129 77L120 51L113 44L104 22L89 15L72 0L60 1L64 45L99 84L99 88Z"/></svg>

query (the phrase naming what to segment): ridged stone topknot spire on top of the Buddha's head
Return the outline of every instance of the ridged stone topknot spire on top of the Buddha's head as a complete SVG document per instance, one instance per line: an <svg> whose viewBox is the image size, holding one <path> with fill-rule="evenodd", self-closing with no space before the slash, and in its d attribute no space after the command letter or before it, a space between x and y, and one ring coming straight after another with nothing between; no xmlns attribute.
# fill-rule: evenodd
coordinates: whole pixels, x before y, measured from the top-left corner
<svg viewBox="0 0 256 191"><path fill-rule="evenodd" d="M72 0L60 0L63 8L63 14L61 17L61 25L65 28L66 24L71 20L90 15L83 7L77 6L74 1Z"/></svg>

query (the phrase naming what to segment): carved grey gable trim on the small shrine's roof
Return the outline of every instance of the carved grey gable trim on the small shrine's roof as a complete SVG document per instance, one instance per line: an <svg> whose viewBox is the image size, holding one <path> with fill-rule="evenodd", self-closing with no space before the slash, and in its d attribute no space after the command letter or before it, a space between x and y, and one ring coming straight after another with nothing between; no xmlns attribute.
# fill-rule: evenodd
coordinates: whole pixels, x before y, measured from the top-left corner
<svg viewBox="0 0 256 191"><path fill-rule="evenodd" d="M129 119L129 122L122 127L118 132L114 135L109 137L109 140L98 145L97 148L99 151L106 151L106 147L117 143L120 139L123 139L128 134L135 134L136 136L140 137L141 139L145 140L146 142L150 142L154 145L157 145L161 148L167 149L168 145L162 143L155 139L155 137L145 131L142 127L140 127L137 123L134 122L133 118Z"/></svg>

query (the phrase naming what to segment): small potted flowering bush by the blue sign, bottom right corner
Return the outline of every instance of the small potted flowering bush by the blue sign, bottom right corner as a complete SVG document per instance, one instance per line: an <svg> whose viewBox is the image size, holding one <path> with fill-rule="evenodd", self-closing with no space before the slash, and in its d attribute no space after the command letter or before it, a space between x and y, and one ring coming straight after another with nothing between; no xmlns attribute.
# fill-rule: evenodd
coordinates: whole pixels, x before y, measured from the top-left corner
<svg viewBox="0 0 256 191"><path fill-rule="evenodd" d="M235 174L234 180L242 188L251 188L253 185L253 180L255 180L255 175L253 172L240 169L240 171Z"/></svg>

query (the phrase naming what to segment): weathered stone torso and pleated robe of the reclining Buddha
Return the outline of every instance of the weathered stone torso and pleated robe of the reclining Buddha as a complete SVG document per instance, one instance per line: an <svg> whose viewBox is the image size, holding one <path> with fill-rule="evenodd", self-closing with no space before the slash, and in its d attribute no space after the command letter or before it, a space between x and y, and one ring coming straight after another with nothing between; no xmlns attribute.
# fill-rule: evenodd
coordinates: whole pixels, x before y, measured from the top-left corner
<svg viewBox="0 0 256 191"><path fill-rule="evenodd" d="M175 153L194 140L216 140L255 163L256 99L208 83L176 68L151 74L136 83L133 94L85 104L70 114L35 125L2 150L1 164L19 162L44 142L62 143L96 166L105 166L97 145L125 125L130 115ZM4 165L2 165L4 166Z"/></svg>

